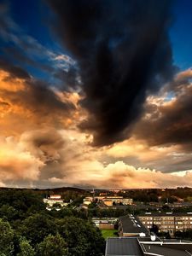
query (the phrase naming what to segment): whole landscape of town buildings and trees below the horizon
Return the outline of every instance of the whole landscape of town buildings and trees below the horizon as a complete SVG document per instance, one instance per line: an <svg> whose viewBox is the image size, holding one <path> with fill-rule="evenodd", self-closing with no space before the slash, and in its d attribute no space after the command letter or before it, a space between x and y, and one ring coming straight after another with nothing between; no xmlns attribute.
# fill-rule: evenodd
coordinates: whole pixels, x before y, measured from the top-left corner
<svg viewBox="0 0 192 256"><path fill-rule="evenodd" d="M61 255L106 256L182 256L190 255L192 249L192 189L188 187L1 188L0 218L1 229L15 233L20 247L28 246L29 255L36 251L43 255L40 252L49 251L49 247L65 252ZM23 235L24 240L20 238ZM3 236L6 234L1 235L5 239ZM66 237L66 243L61 236ZM14 247L15 242L14 235L9 236L5 247Z"/></svg>

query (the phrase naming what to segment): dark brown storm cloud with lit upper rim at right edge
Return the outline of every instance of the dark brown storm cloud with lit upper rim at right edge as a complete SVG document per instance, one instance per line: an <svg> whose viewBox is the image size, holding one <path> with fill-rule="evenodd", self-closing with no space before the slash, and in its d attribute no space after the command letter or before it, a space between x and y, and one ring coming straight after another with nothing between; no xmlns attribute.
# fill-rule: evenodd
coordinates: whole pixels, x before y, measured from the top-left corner
<svg viewBox="0 0 192 256"><path fill-rule="evenodd" d="M175 98L160 106L148 102L146 113L136 125L135 134L151 146L176 144L186 151L192 145L192 71L179 73L168 87ZM148 132L149 131L149 132Z"/></svg>

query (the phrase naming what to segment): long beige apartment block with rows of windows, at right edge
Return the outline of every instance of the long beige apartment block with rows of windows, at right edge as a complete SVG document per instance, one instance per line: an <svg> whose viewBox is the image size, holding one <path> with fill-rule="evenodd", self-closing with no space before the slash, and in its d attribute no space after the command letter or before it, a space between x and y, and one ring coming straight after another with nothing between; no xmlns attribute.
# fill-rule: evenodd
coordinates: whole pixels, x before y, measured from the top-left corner
<svg viewBox="0 0 192 256"><path fill-rule="evenodd" d="M176 231L192 229L192 212L186 213L151 213L146 212L138 216L146 228L151 229L153 225L158 226L159 232L169 232L171 236Z"/></svg>

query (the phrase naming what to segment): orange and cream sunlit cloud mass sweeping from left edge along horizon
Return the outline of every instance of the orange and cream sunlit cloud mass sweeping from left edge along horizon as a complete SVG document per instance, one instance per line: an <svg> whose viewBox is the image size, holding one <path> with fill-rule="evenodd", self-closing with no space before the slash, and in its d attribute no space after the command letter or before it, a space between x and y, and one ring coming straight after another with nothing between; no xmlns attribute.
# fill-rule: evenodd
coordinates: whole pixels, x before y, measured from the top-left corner
<svg viewBox="0 0 192 256"><path fill-rule="evenodd" d="M78 129L87 115L79 106L81 99L77 92L63 92L32 78L18 79L0 70L0 186L18 183L102 188L190 185L190 171L175 172L190 170L190 151L183 152L179 144L150 145L148 137L138 136L142 127L145 128L141 127L143 122L158 121L162 116L160 111L173 109L177 98L169 102L163 97L151 97L150 101L148 98L148 111L137 122L132 136L102 148L93 147L93 136ZM181 169L183 161L189 165Z"/></svg>

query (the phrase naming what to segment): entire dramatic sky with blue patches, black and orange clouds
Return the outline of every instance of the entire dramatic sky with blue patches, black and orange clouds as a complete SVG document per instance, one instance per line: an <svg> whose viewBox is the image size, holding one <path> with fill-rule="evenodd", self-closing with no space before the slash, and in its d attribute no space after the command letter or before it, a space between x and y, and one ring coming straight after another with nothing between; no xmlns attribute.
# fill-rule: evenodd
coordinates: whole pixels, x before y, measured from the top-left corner
<svg viewBox="0 0 192 256"><path fill-rule="evenodd" d="M192 183L190 0L0 0L0 186Z"/></svg>

